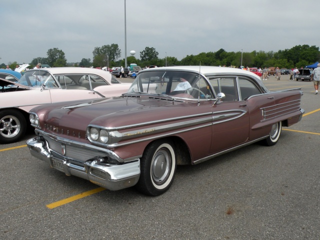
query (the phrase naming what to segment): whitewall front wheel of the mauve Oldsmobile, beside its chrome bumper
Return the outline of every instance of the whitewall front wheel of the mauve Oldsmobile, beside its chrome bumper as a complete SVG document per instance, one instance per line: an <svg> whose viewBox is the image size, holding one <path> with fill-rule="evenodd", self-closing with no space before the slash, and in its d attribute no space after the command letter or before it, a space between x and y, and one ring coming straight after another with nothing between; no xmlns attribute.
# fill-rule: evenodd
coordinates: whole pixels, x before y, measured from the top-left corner
<svg viewBox="0 0 320 240"><path fill-rule="evenodd" d="M140 159L137 190L151 196L165 192L171 185L176 169L174 145L170 140L157 140L148 145Z"/></svg>

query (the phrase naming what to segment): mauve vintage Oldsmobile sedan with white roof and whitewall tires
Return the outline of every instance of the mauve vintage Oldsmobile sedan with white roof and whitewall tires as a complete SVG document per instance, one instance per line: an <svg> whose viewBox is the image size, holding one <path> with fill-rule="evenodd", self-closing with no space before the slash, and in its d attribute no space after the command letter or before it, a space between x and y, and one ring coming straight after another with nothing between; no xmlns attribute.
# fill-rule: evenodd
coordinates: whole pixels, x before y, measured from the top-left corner
<svg viewBox="0 0 320 240"><path fill-rule="evenodd" d="M176 165L256 141L274 145L281 127L301 119L301 95L300 88L269 91L256 74L236 68L151 68L122 96L31 109L37 136L26 144L66 175L159 195Z"/></svg>

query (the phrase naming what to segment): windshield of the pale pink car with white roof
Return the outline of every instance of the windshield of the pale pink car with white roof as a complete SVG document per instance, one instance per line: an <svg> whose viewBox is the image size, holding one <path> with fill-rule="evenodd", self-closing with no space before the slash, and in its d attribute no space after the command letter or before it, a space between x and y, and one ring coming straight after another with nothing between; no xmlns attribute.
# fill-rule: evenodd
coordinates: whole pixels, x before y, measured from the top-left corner
<svg viewBox="0 0 320 240"><path fill-rule="evenodd" d="M20 84L26 86L41 86L42 84L45 87L58 87L55 79L47 71L42 71L40 69L34 69L26 71L19 80Z"/></svg>

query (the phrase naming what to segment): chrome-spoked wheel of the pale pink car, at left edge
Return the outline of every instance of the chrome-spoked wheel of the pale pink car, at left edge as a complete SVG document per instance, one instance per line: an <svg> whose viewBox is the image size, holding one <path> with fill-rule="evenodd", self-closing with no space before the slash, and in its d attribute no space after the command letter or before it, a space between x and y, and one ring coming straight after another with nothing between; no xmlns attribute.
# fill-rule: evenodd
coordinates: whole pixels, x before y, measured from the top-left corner
<svg viewBox="0 0 320 240"><path fill-rule="evenodd" d="M0 143L16 142L25 134L26 121L18 110L0 112Z"/></svg>

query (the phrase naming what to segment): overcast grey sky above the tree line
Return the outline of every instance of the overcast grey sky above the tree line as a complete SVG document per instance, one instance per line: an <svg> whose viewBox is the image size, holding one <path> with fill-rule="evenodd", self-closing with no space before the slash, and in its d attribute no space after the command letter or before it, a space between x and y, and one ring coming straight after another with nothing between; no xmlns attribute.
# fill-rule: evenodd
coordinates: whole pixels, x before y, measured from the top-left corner
<svg viewBox="0 0 320 240"><path fill-rule="evenodd" d="M22 3L23 2L23 3ZM29 63L50 48L67 62L94 47L125 52L124 0L0 0L0 63ZM320 0L126 0L126 49L159 58L200 52L278 51L320 46Z"/></svg>

